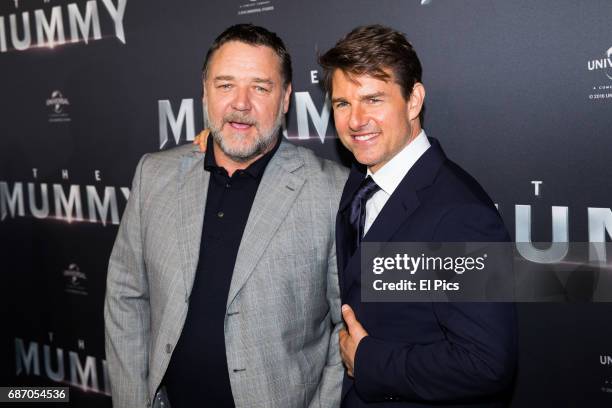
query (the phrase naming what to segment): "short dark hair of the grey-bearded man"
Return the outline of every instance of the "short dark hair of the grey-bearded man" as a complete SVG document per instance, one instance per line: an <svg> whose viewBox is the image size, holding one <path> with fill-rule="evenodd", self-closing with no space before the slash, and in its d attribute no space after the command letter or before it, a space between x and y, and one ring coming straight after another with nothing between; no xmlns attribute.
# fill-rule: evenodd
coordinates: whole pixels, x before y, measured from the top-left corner
<svg viewBox="0 0 612 408"><path fill-rule="evenodd" d="M286 88L291 83L291 56L287 52L287 48L275 33L266 30L253 24L236 24L223 31L212 43L202 66L202 80L206 79L208 63L215 51L221 46L230 41L238 41L249 45L270 47L278 55L281 64L281 77L283 78L283 86Z"/></svg>

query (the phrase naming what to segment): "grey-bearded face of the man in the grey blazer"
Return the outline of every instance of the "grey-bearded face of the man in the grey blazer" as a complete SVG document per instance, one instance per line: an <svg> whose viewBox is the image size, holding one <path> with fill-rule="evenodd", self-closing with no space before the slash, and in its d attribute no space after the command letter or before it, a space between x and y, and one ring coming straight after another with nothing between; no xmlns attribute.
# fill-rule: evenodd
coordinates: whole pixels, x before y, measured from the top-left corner
<svg viewBox="0 0 612 408"><path fill-rule="evenodd" d="M272 48L230 41L216 50L203 103L218 161L250 163L271 150L290 95L291 85L283 87L280 59Z"/></svg>

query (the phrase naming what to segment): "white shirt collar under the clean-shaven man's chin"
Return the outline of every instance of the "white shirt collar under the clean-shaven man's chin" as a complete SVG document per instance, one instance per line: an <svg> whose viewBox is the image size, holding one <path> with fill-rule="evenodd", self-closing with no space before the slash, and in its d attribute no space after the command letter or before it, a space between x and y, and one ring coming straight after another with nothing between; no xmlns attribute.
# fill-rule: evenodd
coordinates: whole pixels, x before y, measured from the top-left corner
<svg viewBox="0 0 612 408"><path fill-rule="evenodd" d="M372 177L385 193L391 195L402 182L414 163L416 163L423 153L429 149L429 146L431 146L431 144L427 139L427 135L424 130L421 130L412 142L408 143L376 173L372 173L368 168L367 175Z"/></svg>

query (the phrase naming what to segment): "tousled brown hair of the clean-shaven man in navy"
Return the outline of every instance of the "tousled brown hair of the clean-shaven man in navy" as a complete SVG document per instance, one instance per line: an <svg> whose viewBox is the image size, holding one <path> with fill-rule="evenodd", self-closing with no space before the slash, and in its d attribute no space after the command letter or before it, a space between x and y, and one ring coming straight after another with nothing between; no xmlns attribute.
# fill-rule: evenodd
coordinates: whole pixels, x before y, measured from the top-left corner
<svg viewBox="0 0 612 408"><path fill-rule="evenodd" d="M379 24L355 28L319 57L323 67L323 86L332 93L332 76L336 69L349 75L370 75L388 81L393 72L395 82L408 99L414 84L421 82L421 61L403 33ZM421 121L422 121L421 111Z"/></svg>

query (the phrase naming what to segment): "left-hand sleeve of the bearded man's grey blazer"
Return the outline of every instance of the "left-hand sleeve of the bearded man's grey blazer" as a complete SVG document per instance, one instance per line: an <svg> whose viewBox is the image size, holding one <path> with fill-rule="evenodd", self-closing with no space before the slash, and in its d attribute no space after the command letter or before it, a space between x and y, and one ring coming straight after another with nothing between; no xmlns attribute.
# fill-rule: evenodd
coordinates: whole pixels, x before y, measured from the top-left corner
<svg viewBox="0 0 612 408"><path fill-rule="evenodd" d="M148 402L149 289L142 249L140 160L111 253L104 301L105 349L114 408Z"/></svg>

